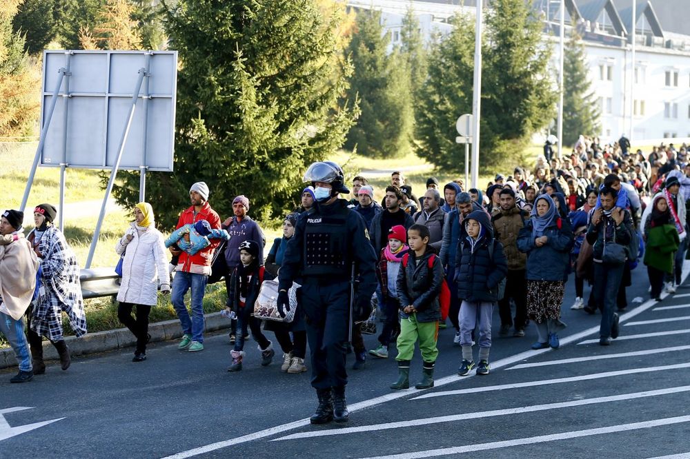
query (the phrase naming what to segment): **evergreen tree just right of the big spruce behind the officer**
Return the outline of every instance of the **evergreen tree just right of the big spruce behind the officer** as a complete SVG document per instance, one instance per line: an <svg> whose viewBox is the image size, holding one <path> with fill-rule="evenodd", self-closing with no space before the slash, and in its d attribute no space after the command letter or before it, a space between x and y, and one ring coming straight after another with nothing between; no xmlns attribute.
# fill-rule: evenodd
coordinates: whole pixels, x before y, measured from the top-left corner
<svg viewBox="0 0 690 459"><path fill-rule="evenodd" d="M387 54L389 42L380 11L357 12L348 47L355 67L348 97L359 98L362 114L345 146L377 158L407 154L414 121L408 67L397 50Z"/></svg>

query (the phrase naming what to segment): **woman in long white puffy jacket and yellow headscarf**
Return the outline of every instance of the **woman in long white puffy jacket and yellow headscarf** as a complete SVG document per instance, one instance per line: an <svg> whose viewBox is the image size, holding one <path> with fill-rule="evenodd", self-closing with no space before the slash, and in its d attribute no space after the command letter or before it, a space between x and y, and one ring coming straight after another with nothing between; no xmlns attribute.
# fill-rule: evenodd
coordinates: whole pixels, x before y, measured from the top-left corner
<svg viewBox="0 0 690 459"><path fill-rule="evenodd" d="M135 206L136 221L115 245L115 252L124 256L122 282L117 292L117 318L137 337L137 349L132 362L146 360L148 315L158 303L158 284L161 293L170 293L168 256L161 232L156 230L153 209L149 203ZM132 309L137 307L136 318Z"/></svg>

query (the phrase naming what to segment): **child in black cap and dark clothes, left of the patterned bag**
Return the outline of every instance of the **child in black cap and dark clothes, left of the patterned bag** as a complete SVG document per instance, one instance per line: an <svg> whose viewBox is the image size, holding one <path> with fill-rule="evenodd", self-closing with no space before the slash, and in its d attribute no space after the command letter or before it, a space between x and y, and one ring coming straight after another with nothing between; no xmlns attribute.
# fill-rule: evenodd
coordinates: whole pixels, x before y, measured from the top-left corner
<svg viewBox="0 0 690 459"><path fill-rule="evenodd" d="M242 369L242 359L244 358L244 336L247 334L247 325L249 326L254 340L259 343L259 351L262 356L262 366L270 365L275 351L271 342L264 336L261 331L261 320L252 316L254 312L254 303L259 296L259 287L264 281L263 266L259 266L259 243L257 241L244 241L239 245L239 261L238 267L233 271L233 276L230 278L230 292L228 298L232 307L226 307L228 312L234 311L237 314L237 328L242 333L237 334L235 340L235 348L230 352L233 357L233 365L230 365L228 371L239 371ZM268 279L273 278L270 274Z"/></svg>

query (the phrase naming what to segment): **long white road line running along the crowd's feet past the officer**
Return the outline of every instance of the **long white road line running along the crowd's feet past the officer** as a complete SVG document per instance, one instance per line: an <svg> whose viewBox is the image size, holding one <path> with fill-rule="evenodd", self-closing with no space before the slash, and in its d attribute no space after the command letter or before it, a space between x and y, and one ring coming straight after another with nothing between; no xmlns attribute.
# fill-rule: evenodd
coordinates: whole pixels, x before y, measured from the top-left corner
<svg viewBox="0 0 690 459"><path fill-rule="evenodd" d="M684 260L683 261L683 274L682 274L682 282L685 281L687 278L688 274L690 274L690 261L689 260ZM666 298L669 296L667 293L662 293L661 297ZM627 312L625 314L622 314L620 316L620 322L623 322L624 320L628 320L629 318L633 318L637 316L638 314L642 314L643 312L647 311L647 309L651 308L653 305L656 305L657 302L655 300L647 300L646 303L642 303L642 305L635 307L635 309L631 310L630 312ZM580 333L576 333L571 336L566 336L565 338L562 338L560 340L561 346L568 345L570 343L574 343L575 341L579 341L585 336L589 336L593 333L598 333L599 332L599 325L596 325L595 327L591 327L589 329L585 329ZM618 338L621 339L621 338ZM598 341L598 340L597 340ZM493 369L499 369L501 367L507 367L509 365L512 365L513 363L520 362L520 360L526 360L527 358L531 358L534 356L538 356L540 354L544 354L544 352L551 352L551 348L549 349L539 349L536 351L529 350L529 351L524 351L521 352L520 354L515 354L513 356L509 356L506 358L503 358L501 360L496 360L495 362L491 363L491 367ZM446 376L444 378L440 378L439 380L434 381L435 387L441 387L443 385L455 383L459 380L469 380L472 378L474 374L471 374L469 376L457 376L457 375L451 375L451 376ZM412 394L416 394L417 392L421 392L422 390L420 389L409 389L406 391L398 391L392 394L386 394L384 396L379 396L375 398L371 398L369 400L363 400L362 402L357 402L354 405L351 405L348 407L348 411L351 413L355 411L359 411L361 409L365 409L368 407L373 407L375 405L380 405L381 403L388 402L391 400L397 400L398 398L404 398L407 396L410 396ZM237 437L237 438L230 438L229 440L224 440L221 442L215 442L210 445L206 446L201 446L197 447L195 449L190 449L188 451L181 451L179 453L173 454L172 456L168 456L163 459L184 459L184 458L190 458L193 456L197 456L199 454L204 454L208 453L209 451L215 451L217 449L222 449L226 448L229 446L233 445L238 445L239 443L244 443L244 442L250 442L254 440L259 440L260 438L266 438L273 436L277 433L282 433L284 431L292 430L292 429L297 429L299 427L304 427L306 425L309 425L309 420L308 419L301 419L293 422L288 422L287 424L283 425L277 425L275 427L269 427L268 429L264 429L261 431L257 431L254 433L248 433L247 435Z"/></svg>

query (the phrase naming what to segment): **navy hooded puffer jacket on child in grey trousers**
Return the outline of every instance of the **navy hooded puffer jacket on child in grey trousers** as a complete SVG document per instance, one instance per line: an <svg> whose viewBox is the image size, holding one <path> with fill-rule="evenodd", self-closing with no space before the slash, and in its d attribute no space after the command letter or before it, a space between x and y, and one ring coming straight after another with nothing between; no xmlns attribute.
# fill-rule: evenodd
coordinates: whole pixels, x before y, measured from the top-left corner
<svg viewBox="0 0 690 459"><path fill-rule="evenodd" d="M475 210L465 217L465 221L469 219L479 222L480 236L475 241L464 233L458 241L453 279L457 284L457 297L471 302L495 303L498 284L508 273L503 245L493 238L493 227L485 212ZM493 244L493 259L489 244Z"/></svg>

